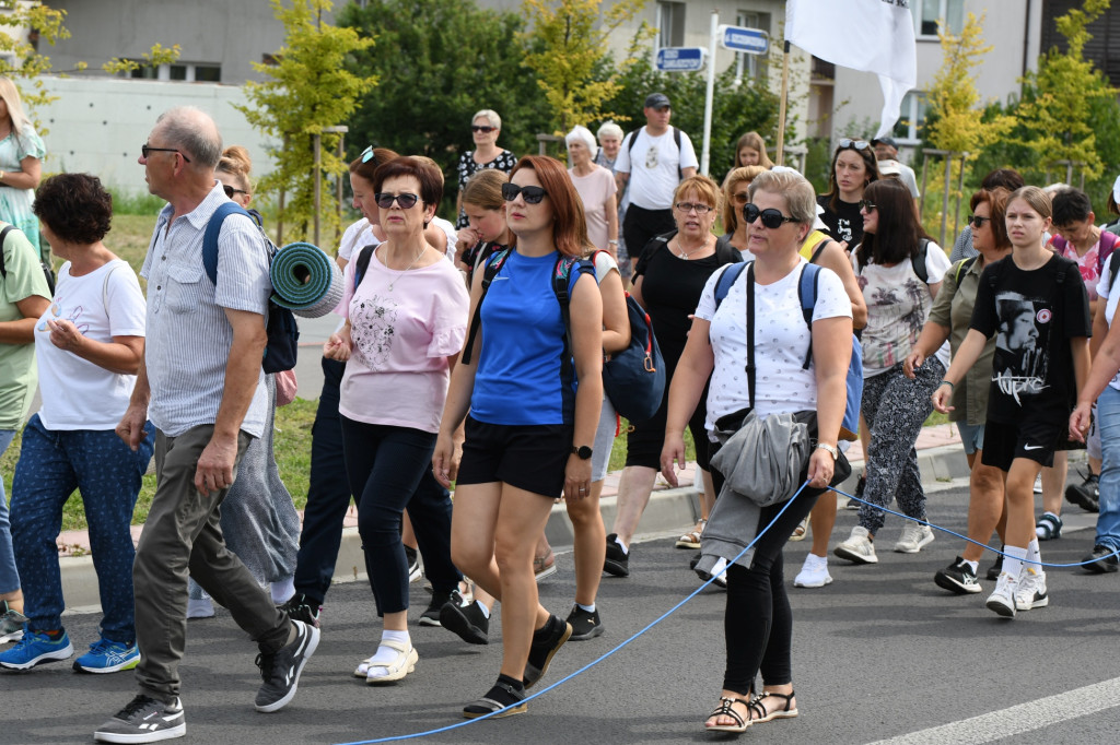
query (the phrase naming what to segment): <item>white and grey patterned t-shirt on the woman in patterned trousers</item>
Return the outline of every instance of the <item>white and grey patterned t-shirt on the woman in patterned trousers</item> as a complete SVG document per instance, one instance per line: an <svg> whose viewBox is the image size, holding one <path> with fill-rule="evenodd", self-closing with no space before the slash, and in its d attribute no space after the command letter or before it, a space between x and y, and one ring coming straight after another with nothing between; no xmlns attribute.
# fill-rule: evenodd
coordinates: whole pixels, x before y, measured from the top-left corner
<svg viewBox="0 0 1120 745"><path fill-rule="evenodd" d="M872 263L862 268L856 252L851 258L867 303L867 327L860 336L864 377L872 378L909 356L933 308L933 295L928 285L914 273L909 258L894 266ZM941 282L951 266L945 252L931 241L925 252L928 284ZM949 367L948 342L937 350L936 358Z"/></svg>

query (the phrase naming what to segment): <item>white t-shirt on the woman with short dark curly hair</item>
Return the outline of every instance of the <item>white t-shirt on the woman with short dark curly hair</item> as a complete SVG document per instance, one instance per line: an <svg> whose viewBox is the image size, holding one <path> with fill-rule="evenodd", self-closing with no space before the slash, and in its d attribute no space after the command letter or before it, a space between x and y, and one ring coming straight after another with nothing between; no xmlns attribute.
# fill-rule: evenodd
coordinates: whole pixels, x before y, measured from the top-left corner
<svg viewBox="0 0 1120 745"><path fill-rule="evenodd" d="M147 305L136 273L121 258L83 276L71 276L69 268L66 262L58 270L54 302L35 324L39 418L48 430L113 430L129 407L137 376L111 372L55 347L47 321L71 321L82 336L111 342L144 336Z"/></svg>

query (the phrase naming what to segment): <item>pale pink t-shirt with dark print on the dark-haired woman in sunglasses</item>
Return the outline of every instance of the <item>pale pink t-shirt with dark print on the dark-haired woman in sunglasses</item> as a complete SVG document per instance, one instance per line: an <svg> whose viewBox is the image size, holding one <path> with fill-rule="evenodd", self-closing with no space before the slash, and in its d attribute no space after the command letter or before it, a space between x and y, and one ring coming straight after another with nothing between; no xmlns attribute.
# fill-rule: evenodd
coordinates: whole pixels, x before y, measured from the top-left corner
<svg viewBox="0 0 1120 745"><path fill-rule="evenodd" d="M356 290L356 262L344 273L354 348L338 412L355 422L439 432L450 379L447 358L459 351L467 332L467 290L450 262L396 272L380 254L370 257Z"/></svg>

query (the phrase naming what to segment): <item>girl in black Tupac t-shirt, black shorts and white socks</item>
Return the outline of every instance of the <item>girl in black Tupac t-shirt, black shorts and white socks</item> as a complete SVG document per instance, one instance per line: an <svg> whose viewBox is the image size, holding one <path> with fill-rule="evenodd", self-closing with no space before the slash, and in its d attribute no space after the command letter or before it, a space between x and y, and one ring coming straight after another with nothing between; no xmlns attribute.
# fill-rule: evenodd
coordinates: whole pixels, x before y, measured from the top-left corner
<svg viewBox="0 0 1120 745"><path fill-rule="evenodd" d="M1004 570L987 602L1006 619L1049 603L1035 536L1035 477L1066 441L1072 385L1085 390L1089 376L1089 295L1077 264L1043 245L1049 226L1042 189L1010 196L1011 255L980 277L969 333L932 396L939 412L950 412L953 388L996 338L981 460L1004 472L1007 492Z"/></svg>

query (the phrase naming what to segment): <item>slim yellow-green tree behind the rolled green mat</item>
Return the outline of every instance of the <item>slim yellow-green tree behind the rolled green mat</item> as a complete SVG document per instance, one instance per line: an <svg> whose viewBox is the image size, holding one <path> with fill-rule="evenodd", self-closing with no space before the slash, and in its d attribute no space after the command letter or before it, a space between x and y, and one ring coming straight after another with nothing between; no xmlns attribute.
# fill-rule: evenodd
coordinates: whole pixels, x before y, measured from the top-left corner
<svg viewBox="0 0 1120 745"><path fill-rule="evenodd" d="M376 84L373 76L355 74L351 64L352 55L367 49L373 39L324 22L330 0L292 0L290 7L282 0L271 2L284 26L284 46L273 54L274 65L253 64L271 79L245 83L250 105L237 110L251 125L283 143L273 150L276 168L261 179L258 190L282 191L284 202L278 217L291 226L292 239L300 239L316 217L316 169L320 176L346 173L346 162L336 154L339 135L324 130L346 122L358 97ZM318 166L316 135L321 138ZM338 230L334 209L320 210L318 217L324 234Z"/></svg>

